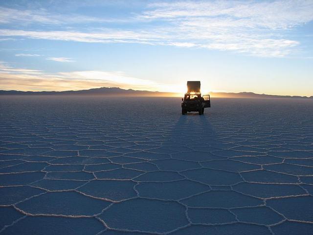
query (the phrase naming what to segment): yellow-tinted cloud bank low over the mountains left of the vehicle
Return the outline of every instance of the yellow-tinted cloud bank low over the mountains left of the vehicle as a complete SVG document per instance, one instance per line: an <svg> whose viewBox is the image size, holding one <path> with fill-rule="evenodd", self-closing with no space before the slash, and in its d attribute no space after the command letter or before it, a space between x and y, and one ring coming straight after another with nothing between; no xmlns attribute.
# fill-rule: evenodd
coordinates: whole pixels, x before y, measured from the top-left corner
<svg viewBox="0 0 313 235"><path fill-rule="evenodd" d="M21 69L0 62L0 87L3 90L66 91L97 87L169 91L171 84L140 79L123 71L71 71L46 73L39 70Z"/></svg>

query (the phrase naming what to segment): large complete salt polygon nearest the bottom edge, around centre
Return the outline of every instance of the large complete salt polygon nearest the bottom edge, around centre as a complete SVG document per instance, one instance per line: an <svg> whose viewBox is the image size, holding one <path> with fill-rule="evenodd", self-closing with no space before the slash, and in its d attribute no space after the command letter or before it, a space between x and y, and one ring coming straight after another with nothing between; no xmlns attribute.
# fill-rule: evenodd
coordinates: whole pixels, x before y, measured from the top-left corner
<svg viewBox="0 0 313 235"><path fill-rule="evenodd" d="M165 233L189 224L185 211L175 201L133 199L112 205L100 218L114 229Z"/></svg>

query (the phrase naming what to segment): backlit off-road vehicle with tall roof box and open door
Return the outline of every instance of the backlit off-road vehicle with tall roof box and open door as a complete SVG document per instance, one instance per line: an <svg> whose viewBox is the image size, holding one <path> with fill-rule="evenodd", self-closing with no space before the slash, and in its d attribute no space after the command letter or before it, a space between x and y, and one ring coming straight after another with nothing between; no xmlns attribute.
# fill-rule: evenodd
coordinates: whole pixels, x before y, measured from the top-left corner
<svg viewBox="0 0 313 235"><path fill-rule="evenodd" d="M201 96L200 81L188 81L188 92L182 98L181 114L185 115L187 112L199 112L199 115L204 113L204 108L211 107L210 95L205 94Z"/></svg>

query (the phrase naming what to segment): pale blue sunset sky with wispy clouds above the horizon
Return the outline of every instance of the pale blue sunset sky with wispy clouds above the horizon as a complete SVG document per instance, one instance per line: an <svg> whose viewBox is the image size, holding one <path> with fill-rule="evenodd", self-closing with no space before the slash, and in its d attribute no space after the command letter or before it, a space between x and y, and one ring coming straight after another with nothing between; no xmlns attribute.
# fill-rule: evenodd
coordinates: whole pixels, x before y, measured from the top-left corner
<svg viewBox="0 0 313 235"><path fill-rule="evenodd" d="M0 1L0 90L313 95L313 0Z"/></svg>

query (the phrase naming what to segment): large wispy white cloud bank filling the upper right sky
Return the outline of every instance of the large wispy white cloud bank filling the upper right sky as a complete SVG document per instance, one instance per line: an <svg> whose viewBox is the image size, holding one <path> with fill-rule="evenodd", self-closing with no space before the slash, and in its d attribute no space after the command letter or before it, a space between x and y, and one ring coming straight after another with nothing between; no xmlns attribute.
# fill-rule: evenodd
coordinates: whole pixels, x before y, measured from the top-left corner
<svg viewBox="0 0 313 235"><path fill-rule="evenodd" d="M286 32L313 20L313 1L158 2L137 17L166 22L175 46L284 57L299 45Z"/></svg>

